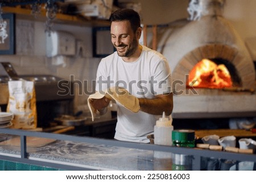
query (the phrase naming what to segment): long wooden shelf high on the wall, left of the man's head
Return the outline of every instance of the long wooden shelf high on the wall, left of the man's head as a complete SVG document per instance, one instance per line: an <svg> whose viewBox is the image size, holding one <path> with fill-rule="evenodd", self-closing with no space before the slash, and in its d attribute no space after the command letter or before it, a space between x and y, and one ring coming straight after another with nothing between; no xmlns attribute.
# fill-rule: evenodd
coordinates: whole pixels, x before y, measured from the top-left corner
<svg viewBox="0 0 256 182"><path fill-rule="evenodd" d="M35 17L31 14L30 9L24 9L20 6L16 7L2 7L3 13L14 13L16 14L17 19L29 19L39 22L45 22L46 18L46 10L42 9L41 13ZM67 15L57 13L56 18L53 20L53 23L60 24L71 24L77 26L85 26L85 27L102 27L102 26L110 26L110 22L108 20L101 19L86 19L83 16L79 15Z"/></svg>

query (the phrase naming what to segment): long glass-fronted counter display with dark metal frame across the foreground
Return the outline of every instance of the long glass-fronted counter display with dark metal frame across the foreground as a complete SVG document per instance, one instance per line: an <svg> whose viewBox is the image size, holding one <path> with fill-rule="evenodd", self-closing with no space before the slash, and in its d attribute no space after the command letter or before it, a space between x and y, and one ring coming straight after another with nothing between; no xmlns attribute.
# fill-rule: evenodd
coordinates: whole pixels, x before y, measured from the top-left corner
<svg viewBox="0 0 256 182"><path fill-rule="evenodd" d="M255 154L0 128L1 170L256 170ZM20 167L23 166L23 167ZM10 170L10 169L9 169Z"/></svg>

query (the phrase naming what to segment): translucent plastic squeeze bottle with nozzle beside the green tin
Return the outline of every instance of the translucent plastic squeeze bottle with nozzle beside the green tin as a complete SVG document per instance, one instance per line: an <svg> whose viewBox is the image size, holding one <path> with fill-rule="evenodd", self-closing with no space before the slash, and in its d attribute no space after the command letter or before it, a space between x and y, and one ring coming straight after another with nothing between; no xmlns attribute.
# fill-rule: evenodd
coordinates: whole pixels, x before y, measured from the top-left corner
<svg viewBox="0 0 256 182"><path fill-rule="evenodd" d="M154 143L157 145L172 145L172 119L166 117L166 113L163 112L163 116L156 121L154 126Z"/></svg>

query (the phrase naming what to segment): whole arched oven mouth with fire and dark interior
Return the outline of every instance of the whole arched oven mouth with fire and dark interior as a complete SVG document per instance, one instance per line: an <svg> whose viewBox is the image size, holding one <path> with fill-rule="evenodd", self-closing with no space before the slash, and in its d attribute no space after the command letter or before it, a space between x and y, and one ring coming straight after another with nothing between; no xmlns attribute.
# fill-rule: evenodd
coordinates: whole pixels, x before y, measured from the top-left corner
<svg viewBox="0 0 256 182"><path fill-rule="evenodd" d="M194 88L230 88L241 86L241 80L229 61L204 58L189 72L186 85Z"/></svg>

